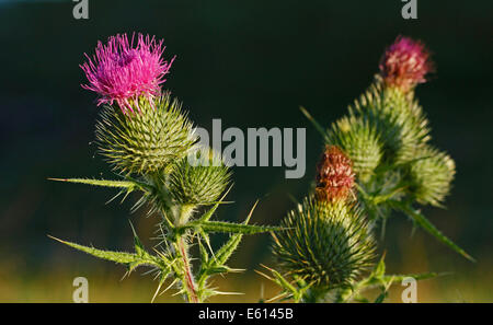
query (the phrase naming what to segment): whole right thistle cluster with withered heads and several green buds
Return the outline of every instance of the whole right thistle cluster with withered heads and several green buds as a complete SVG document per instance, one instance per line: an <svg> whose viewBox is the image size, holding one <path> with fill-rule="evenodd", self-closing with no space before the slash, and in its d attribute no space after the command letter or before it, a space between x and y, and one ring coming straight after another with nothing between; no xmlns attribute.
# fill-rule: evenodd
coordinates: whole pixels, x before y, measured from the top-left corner
<svg viewBox="0 0 493 325"><path fill-rule="evenodd" d="M473 260L417 208L443 207L455 175L454 160L431 143L429 123L415 97L416 85L433 70L425 46L399 36L346 116L324 128L301 107L325 149L314 189L283 220L287 230L274 234L279 270L265 267L270 275L262 274L282 288L273 300L369 301L362 293L379 287L375 301L383 301L389 287L406 277L386 275L385 254L375 260L374 232L380 228L383 236L393 212Z"/></svg>

